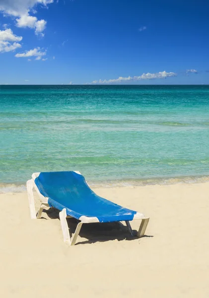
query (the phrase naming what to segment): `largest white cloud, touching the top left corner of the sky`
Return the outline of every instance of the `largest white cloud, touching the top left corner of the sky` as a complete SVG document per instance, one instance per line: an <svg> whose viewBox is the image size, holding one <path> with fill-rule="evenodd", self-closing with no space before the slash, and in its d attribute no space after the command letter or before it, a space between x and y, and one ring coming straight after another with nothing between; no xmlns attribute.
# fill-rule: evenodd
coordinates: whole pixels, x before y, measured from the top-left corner
<svg viewBox="0 0 209 298"><path fill-rule="evenodd" d="M15 16L17 27L34 28L37 35L43 36L46 21L38 20L36 16L31 16L29 13L35 13L34 8L38 4L47 6L53 2L54 0L0 0L0 11L6 16Z"/></svg>

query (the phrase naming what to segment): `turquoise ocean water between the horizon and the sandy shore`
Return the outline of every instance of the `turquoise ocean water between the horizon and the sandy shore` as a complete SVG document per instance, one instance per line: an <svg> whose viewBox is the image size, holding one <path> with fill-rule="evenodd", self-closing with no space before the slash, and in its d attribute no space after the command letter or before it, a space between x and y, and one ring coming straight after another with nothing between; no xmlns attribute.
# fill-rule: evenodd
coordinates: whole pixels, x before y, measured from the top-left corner
<svg viewBox="0 0 209 298"><path fill-rule="evenodd" d="M208 181L209 86L1 85L0 191L61 170L95 186Z"/></svg>

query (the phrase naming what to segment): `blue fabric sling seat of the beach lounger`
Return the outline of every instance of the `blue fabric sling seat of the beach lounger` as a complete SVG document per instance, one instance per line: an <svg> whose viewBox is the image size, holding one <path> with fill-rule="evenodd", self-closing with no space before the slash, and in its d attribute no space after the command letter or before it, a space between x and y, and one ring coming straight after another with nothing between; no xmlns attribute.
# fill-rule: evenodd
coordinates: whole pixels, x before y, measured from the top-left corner
<svg viewBox="0 0 209 298"><path fill-rule="evenodd" d="M132 221L136 211L124 208L96 195L85 178L74 171L41 172L35 179L40 193L48 197L50 207L75 219L96 217L100 223Z"/></svg>

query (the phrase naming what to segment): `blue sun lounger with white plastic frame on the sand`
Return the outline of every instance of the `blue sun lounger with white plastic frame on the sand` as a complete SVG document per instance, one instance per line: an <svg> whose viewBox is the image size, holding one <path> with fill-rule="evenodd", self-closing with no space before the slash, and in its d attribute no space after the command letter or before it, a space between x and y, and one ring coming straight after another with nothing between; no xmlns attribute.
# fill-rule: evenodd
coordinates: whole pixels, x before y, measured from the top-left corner
<svg viewBox="0 0 209 298"><path fill-rule="evenodd" d="M41 206L36 216L33 188L37 191ZM138 237L144 235L149 218L136 211L119 206L96 195L88 186L85 178L77 171L33 173L27 181L30 215L32 219L41 218L44 207L60 210L60 221L64 241L74 245L82 224L111 223L125 221L130 233L133 230L130 221L141 220ZM67 218L75 218L75 233L70 237Z"/></svg>

